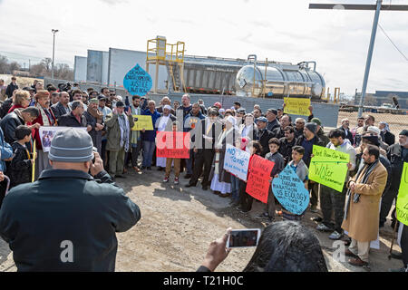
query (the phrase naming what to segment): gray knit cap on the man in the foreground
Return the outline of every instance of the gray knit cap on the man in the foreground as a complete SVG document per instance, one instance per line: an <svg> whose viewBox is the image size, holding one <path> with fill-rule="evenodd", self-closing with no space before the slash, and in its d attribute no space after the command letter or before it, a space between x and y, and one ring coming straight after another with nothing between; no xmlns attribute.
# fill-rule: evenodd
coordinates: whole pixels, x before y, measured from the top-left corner
<svg viewBox="0 0 408 290"><path fill-rule="evenodd" d="M93 158L92 147L91 136L82 129L71 128L57 131L51 141L48 158L56 162L91 161Z"/></svg>

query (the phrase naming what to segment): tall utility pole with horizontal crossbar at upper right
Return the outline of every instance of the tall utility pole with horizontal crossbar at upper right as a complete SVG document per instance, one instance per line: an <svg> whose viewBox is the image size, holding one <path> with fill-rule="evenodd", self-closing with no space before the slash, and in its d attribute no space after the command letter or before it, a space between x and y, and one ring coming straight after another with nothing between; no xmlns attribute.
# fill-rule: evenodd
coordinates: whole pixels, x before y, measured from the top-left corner
<svg viewBox="0 0 408 290"><path fill-rule="evenodd" d="M310 4L309 9L335 9L341 7L342 10L375 10L373 30L371 32L370 45L368 47L367 61L365 63L363 89L358 107L358 117L363 114L364 98L367 91L368 75L370 74L371 61L374 52L375 35L377 34L378 19L381 10L388 11L408 11L408 5L382 5L383 0L377 0L376 5L353 5L353 4Z"/></svg>

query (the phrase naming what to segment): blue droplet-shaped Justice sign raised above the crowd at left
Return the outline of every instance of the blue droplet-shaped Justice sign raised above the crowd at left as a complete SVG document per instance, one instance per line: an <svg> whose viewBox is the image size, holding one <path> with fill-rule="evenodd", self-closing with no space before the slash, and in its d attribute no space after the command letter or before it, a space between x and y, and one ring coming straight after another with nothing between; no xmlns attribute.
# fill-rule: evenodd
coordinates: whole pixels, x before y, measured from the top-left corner
<svg viewBox="0 0 408 290"><path fill-rule="evenodd" d="M123 79L125 89L128 90L129 93L139 96L144 96L151 91L152 84L151 75L143 70L139 63L126 73Z"/></svg>

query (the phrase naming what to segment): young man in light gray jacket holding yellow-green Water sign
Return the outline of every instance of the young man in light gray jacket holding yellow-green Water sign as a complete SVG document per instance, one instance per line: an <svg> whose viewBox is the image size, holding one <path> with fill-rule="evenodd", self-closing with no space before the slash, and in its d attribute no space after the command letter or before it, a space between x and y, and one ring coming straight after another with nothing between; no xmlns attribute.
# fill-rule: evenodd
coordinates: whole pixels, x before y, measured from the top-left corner
<svg viewBox="0 0 408 290"><path fill-rule="evenodd" d="M349 177L348 172L355 169L355 149L348 140L345 140L345 131L342 131L340 129L332 130L330 131L328 137L330 139L330 143L327 144L326 148L347 153L350 158L348 163L339 164L339 166L347 166L348 169L345 179L340 180L343 185L343 189L341 192L323 184L321 185L320 208L322 209L323 221L321 224L317 225L316 228L321 231L333 231L329 238L339 239L343 237L342 222L345 208L345 193L347 192L345 182ZM329 160L328 162L333 161ZM332 164L333 163L322 164L322 166L326 169L325 173L327 175L329 174L330 166ZM335 179L336 177L337 176L333 176L332 178ZM331 222L333 211L335 212L335 224Z"/></svg>

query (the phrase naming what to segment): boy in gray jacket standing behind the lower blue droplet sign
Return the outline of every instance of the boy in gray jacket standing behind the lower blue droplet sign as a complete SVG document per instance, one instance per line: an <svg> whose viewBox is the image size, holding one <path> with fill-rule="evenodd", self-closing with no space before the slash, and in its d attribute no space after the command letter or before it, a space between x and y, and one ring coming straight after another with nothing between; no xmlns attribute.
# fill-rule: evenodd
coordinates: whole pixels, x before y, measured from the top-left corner
<svg viewBox="0 0 408 290"><path fill-rule="evenodd" d="M290 166L290 168L296 172L297 177L302 180L302 182L305 184L305 189L307 189L309 169L307 169L305 162L302 160L304 155L305 148L303 148L302 146L294 146L292 148L292 160L287 164L287 166ZM284 208L282 208L282 211L279 213L281 213L283 218L291 220L301 220L305 215L305 212L303 212L300 216L295 215L291 212L288 212Z"/></svg>

